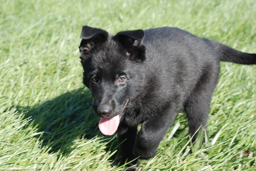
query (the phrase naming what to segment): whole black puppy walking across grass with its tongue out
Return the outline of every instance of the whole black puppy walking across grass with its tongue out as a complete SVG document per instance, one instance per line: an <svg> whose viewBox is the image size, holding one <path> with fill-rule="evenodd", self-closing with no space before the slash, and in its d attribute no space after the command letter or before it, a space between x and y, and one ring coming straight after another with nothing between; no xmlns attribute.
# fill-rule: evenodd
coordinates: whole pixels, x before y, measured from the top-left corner
<svg viewBox="0 0 256 171"><path fill-rule="evenodd" d="M81 38L83 82L100 116L100 131L105 135L117 131L120 142L126 139L121 145L122 163L153 157L182 107L191 135L206 125L220 61L256 64L256 54L178 28L123 31L112 36L83 26Z"/></svg>

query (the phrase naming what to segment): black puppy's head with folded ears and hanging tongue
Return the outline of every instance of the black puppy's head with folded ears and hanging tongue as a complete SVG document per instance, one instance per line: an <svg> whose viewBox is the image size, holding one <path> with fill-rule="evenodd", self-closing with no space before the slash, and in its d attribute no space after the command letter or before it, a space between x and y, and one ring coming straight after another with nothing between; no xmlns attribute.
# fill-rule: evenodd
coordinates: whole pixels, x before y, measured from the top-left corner
<svg viewBox="0 0 256 171"><path fill-rule="evenodd" d="M143 30L109 35L105 30L83 26L80 59L83 83L94 99L93 109L102 118L102 133L112 135L120 117L139 91L141 64L145 60ZM136 73L137 72L137 73Z"/></svg>

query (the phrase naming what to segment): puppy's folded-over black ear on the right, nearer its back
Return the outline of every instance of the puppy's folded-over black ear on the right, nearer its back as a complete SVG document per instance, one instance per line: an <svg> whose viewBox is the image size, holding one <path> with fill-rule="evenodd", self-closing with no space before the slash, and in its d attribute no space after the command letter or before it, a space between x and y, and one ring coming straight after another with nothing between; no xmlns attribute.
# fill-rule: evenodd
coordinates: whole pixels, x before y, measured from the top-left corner
<svg viewBox="0 0 256 171"><path fill-rule="evenodd" d="M145 60L145 46L141 45L144 37L143 30L118 32L114 40L120 42L126 49L126 54L142 61Z"/></svg>

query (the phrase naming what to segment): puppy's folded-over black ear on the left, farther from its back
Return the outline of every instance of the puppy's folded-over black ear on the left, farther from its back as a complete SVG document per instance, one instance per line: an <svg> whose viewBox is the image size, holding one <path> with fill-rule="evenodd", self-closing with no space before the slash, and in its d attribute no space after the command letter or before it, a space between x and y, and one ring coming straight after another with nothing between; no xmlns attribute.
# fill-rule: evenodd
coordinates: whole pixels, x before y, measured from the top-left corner
<svg viewBox="0 0 256 171"><path fill-rule="evenodd" d="M95 46L106 42L108 39L108 32L99 28L83 26L80 37L82 38L79 46L80 53L86 54Z"/></svg>

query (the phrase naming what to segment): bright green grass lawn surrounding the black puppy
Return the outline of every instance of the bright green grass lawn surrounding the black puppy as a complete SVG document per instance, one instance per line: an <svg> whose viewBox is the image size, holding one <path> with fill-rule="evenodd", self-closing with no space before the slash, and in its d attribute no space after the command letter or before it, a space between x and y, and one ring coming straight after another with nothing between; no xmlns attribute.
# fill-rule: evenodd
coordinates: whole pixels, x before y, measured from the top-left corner
<svg viewBox="0 0 256 171"><path fill-rule="evenodd" d="M83 25L114 34L182 28L256 53L254 0L0 0L0 170L123 170L82 85ZM207 142L179 113L147 170L256 170L256 66L221 63ZM175 128L175 129L174 129ZM174 133L172 135L172 133ZM192 152L190 152L192 149ZM252 157L243 153L252 151Z"/></svg>

